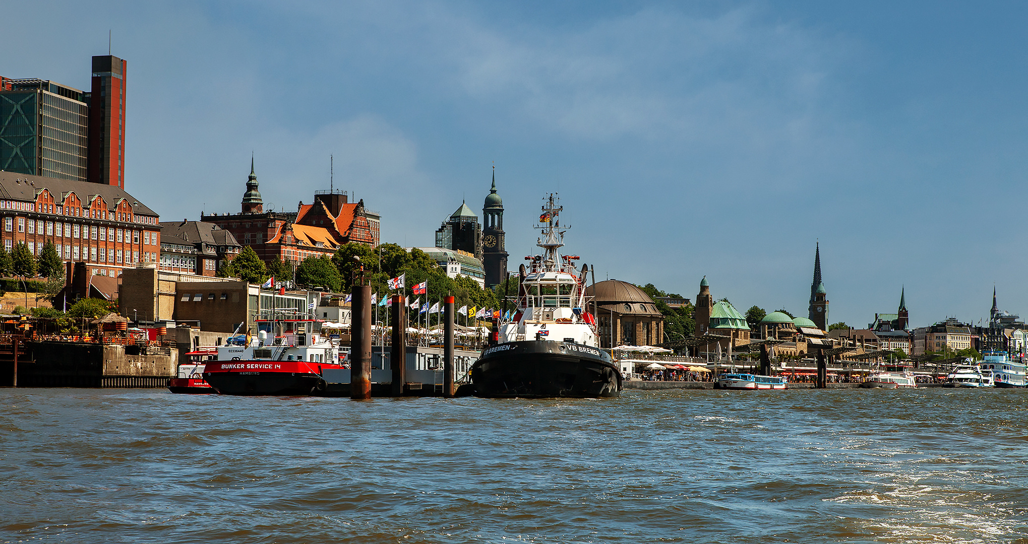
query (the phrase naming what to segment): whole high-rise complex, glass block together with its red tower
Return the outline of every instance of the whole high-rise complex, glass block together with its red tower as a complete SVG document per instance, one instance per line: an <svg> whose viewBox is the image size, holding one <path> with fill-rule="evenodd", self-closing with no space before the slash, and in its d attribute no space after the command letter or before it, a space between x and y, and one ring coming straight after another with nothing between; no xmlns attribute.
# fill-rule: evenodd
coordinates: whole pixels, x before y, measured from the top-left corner
<svg viewBox="0 0 1028 544"><path fill-rule="evenodd" d="M0 76L0 170L124 189L125 67L94 56L89 91Z"/></svg>

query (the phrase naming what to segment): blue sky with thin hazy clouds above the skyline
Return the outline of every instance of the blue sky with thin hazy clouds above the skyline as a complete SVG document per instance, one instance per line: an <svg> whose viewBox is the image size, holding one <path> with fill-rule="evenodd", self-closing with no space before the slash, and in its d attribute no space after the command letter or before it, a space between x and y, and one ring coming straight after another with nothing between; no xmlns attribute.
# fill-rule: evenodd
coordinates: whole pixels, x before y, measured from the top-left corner
<svg viewBox="0 0 1028 544"><path fill-rule="evenodd" d="M163 221L333 186L433 245L492 166L510 268L560 195L597 279L830 321L1028 314L1028 4L11 2L0 75L127 61L125 189ZM17 22L21 22L17 23Z"/></svg>

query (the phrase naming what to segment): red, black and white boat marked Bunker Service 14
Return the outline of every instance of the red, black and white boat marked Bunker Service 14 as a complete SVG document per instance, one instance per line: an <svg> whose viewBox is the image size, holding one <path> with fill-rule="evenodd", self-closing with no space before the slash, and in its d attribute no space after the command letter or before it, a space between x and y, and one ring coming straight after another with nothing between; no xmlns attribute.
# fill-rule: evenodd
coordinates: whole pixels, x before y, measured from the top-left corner
<svg viewBox="0 0 1028 544"><path fill-rule="evenodd" d="M310 395L325 391L326 370L344 370L336 340L306 333L317 322L308 319L281 320L290 334L257 338L234 337L218 346L216 360L208 361L204 379L225 395ZM258 320L258 324L265 324ZM303 332L300 332L303 331Z"/></svg>

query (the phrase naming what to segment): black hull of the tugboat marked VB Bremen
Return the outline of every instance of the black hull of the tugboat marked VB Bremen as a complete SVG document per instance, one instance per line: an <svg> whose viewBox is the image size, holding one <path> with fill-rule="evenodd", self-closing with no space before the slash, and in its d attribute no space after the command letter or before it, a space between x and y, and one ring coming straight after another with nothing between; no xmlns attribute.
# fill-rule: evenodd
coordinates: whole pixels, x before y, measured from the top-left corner
<svg viewBox="0 0 1028 544"><path fill-rule="evenodd" d="M485 350L471 367L485 398L598 398L621 394L621 373L605 352L582 344L509 342Z"/></svg>

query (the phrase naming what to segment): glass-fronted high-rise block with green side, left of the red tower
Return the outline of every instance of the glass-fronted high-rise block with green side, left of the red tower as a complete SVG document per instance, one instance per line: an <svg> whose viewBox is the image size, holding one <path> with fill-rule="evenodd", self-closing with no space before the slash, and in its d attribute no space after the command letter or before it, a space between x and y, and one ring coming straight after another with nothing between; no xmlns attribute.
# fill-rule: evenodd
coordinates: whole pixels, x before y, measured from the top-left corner
<svg viewBox="0 0 1028 544"><path fill-rule="evenodd" d="M0 170L86 181L86 93L0 77Z"/></svg>

